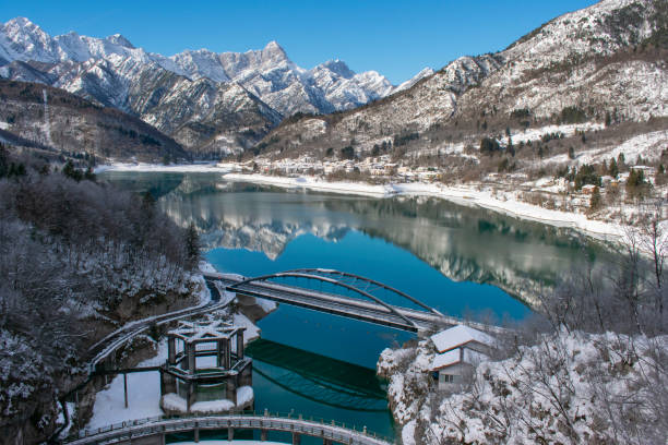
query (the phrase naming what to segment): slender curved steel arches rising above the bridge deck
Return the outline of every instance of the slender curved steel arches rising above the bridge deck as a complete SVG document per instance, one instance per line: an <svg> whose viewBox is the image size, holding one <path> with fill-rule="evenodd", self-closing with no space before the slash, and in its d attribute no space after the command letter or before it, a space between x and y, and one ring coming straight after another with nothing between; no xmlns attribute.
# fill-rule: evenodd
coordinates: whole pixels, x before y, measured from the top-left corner
<svg viewBox="0 0 668 445"><path fill-rule="evenodd" d="M251 277L251 278L246 278L241 281L238 281L231 286L228 287L229 290L239 290L238 288L242 285L246 284L251 284L251 282L255 282L255 281L267 281L272 278L306 278L306 279L311 279L311 280L315 280L315 281L321 281L321 282L329 282L331 285L347 289L347 290L351 290L353 292L358 293L359 296L373 301L374 303L378 303L380 305L382 305L383 308L385 308L387 311L390 311L391 313L393 313L394 315L398 316L399 318L402 318L403 321L405 321L408 325L414 326L417 328L417 325L415 324L415 322L413 322L411 320L409 320L407 316L405 316L404 314L402 314L401 312L398 312L395 306L393 306L392 304L387 304L385 303L383 300L381 300L380 298L371 294L372 290L375 289L384 289L387 290L396 296L402 297L405 300L410 301L411 303L415 303L417 305L419 305L422 309L426 309L427 311L439 315L439 316L443 316L442 313L440 313L439 311L437 311L436 309L422 303L421 301L417 300L416 298L413 298L410 296L408 296L405 292L402 292L401 290L397 290L393 287L390 287L387 285L384 285L380 281L373 280L371 278L366 278L362 277L360 275L355 275L355 274L349 274L346 272L339 272L339 270L334 270L334 269L325 269L325 268L301 268L301 269L293 269L293 270L285 270L285 272L278 272L275 274L267 274L267 275L261 275L258 277ZM360 282L363 286L363 289L361 288L361 286L358 286L357 282ZM370 289L373 288L373 289Z"/></svg>

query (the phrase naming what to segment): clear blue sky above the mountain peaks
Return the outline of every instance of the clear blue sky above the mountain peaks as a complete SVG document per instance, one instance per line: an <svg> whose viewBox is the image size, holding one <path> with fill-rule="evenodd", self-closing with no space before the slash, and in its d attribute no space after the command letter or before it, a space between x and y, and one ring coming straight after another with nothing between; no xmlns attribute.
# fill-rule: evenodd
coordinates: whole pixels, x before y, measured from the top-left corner
<svg viewBox="0 0 668 445"><path fill-rule="evenodd" d="M550 19L594 0L413 0L190 2L23 0L0 2L0 21L26 16L51 35L120 33L138 47L170 56L183 49L259 49L276 40L312 68L342 59L397 84L424 67L505 48Z"/></svg>

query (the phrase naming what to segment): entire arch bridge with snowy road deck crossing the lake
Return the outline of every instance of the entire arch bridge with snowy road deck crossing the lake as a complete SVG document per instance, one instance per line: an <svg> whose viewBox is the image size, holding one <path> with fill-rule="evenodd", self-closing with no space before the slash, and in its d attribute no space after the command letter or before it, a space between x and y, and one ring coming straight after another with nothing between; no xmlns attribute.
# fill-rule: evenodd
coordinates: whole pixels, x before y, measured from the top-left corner
<svg viewBox="0 0 668 445"><path fill-rule="evenodd" d="M205 278L219 281L227 291L239 296L263 298L413 333L462 323L462 320L446 316L401 290L339 270L301 268L258 277L205 274ZM488 326L484 328L489 329Z"/></svg>

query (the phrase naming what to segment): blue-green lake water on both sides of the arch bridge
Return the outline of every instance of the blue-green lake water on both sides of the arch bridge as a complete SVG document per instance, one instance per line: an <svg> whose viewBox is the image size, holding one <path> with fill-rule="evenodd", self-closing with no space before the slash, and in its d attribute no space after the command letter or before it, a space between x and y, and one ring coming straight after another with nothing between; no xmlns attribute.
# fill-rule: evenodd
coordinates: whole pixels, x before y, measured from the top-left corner
<svg viewBox="0 0 668 445"><path fill-rule="evenodd" d="M608 255L569 229L437 199L286 192L228 183L216 173L106 172L102 178L138 193L150 191L183 227L193 221L206 260L218 270L258 276L333 268L390 285L443 313L499 323L527 316L523 301L587 261L600 267ZM259 326L265 339L368 368L383 348L413 338L285 304ZM325 359L322 363L327 366ZM332 402L331 389L319 393L322 382L300 380L298 371L258 359L254 366L258 410L294 410L392 434L383 404L359 410L354 398Z"/></svg>

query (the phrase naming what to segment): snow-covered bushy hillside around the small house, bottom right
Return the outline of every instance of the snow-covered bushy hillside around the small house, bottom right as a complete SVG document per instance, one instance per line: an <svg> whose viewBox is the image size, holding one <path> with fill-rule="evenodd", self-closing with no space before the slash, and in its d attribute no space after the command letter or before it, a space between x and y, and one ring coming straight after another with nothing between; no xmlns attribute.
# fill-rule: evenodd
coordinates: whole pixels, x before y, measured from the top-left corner
<svg viewBox="0 0 668 445"><path fill-rule="evenodd" d="M609 400L625 400L641 417L661 416L660 409L642 400L649 397L653 385L665 385L665 374L647 370L656 365L656 351L666 350L668 336L589 335L563 329L542 336L535 346L520 347L503 361L472 354L469 360L477 366L475 383L470 389L453 394L429 389L430 377L424 369L424 358L430 356L428 346L429 340L422 340L414 348L385 350L378 364L379 373L390 381L390 405L403 425L405 444L535 443L541 433L547 434L542 437L547 443L573 443L563 429L552 428L563 416L572 420L580 442L584 437L589 438L584 442L594 437L610 442L604 437L619 433L612 431L612 424L624 421L619 417L627 410L607 412ZM407 365L405 360L409 360ZM427 431L416 429L422 422L429 423Z"/></svg>

